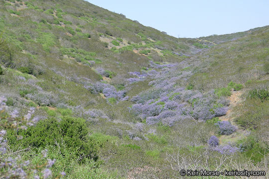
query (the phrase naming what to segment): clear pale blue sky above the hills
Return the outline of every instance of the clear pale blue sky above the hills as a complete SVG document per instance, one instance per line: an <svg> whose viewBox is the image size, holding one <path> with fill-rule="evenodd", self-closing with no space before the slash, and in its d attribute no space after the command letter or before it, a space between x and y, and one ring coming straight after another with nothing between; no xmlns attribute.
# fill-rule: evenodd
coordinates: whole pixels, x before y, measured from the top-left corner
<svg viewBox="0 0 269 179"><path fill-rule="evenodd" d="M196 38L269 25L269 0L87 0L174 37Z"/></svg>

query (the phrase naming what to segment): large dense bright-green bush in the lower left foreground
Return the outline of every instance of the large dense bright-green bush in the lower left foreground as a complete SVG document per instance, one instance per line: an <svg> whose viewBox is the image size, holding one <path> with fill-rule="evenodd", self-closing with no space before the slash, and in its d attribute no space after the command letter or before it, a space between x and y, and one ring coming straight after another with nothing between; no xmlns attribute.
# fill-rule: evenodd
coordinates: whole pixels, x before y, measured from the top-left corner
<svg viewBox="0 0 269 179"><path fill-rule="evenodd" d="M23 139L19 142L9 140L10 145L31 147L36 151L38 148L46 148L47 146L56 147L58 143L65 146L59 149L62 152L67 148L81 160L90 157L96 159L93 142L87 137L88 129L85 120L82 118L65 116L62 117L60 122L54 118L45 119L39 121L36 126L28 127L27 130L19 130L17 134L22 136ZM13 132L9 133L9 136L12 135L14 135Z"/></svg>

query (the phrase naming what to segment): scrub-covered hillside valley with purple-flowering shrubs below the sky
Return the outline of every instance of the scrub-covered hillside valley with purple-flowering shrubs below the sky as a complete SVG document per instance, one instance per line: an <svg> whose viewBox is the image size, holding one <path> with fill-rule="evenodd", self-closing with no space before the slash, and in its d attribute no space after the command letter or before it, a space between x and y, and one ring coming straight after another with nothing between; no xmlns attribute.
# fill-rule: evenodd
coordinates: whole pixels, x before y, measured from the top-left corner
<svg viewBox="0 0 269 179"><path fill-rule="evenodd" d="M269 26L175 38L83 0L0 1L0 179L266 179L268 99Z"/></svg>

